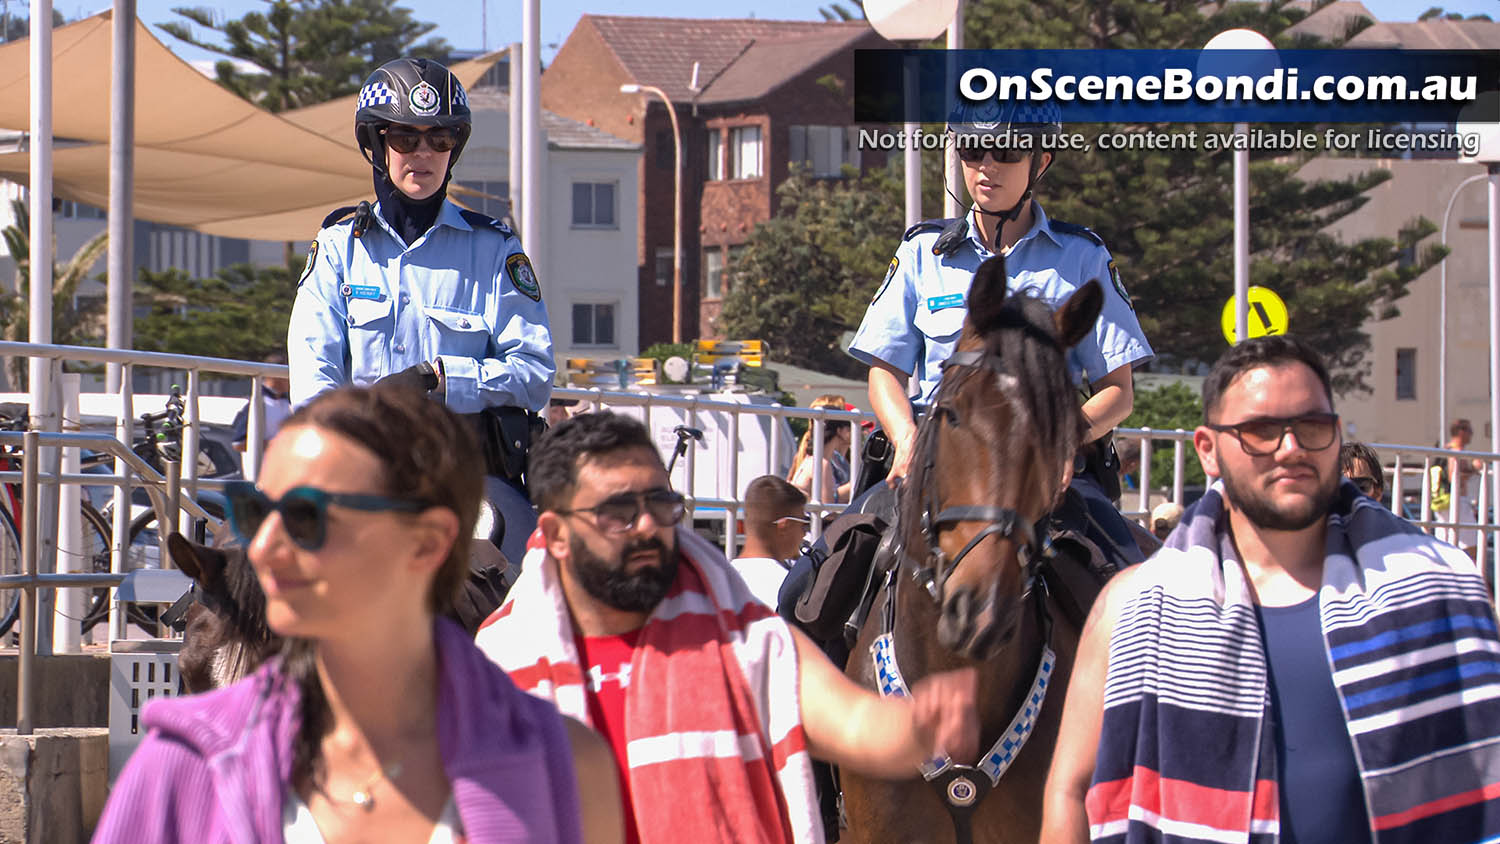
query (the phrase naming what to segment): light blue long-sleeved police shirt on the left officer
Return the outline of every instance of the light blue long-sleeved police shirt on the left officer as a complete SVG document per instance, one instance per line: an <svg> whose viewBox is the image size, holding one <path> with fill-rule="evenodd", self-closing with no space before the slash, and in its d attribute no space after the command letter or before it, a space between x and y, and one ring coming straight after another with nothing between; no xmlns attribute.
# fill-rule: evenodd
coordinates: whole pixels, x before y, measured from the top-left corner
<svg viewBox="0 0 1500 844"><path fill-rule="evenodd" d="M540 411L552 396L552 331L520 240L504 223L444 201L406 246L380 216L318 232L286 331L292 406L344 384L368 385L441 361L444 402L472 414Z"/></svg>

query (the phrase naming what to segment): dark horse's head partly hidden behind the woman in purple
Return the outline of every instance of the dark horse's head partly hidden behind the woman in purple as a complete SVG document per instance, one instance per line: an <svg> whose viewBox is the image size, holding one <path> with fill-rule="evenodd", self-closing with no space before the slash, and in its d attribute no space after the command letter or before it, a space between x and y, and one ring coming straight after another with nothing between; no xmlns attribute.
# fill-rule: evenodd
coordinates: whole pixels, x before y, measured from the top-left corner
<svg viewBox="0 0 1500 844"><path fill-rule="evenodd" d="M189 693L228 685L255 670L278 646L266 625L266 592L236 544L200 546L166 537L172 562L196 582L177 667Z"/></svg>

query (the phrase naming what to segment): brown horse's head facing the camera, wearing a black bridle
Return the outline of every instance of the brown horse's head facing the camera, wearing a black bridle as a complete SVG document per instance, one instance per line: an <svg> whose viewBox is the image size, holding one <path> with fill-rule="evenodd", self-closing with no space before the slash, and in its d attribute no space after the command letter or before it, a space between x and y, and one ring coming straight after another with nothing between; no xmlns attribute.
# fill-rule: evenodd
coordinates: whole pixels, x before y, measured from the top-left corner
<svg viewBox="0 0 1500 844"><path fill-rule="evenodd" d="M1102 301L1098 282L1056 312L1006 295L999 256L975 273L902 493L904 552L940 604L939 642L960 655L987 658L1017 630L1040 559L1034 525L1062 492L1086 430L1066 351Z"/></svg>

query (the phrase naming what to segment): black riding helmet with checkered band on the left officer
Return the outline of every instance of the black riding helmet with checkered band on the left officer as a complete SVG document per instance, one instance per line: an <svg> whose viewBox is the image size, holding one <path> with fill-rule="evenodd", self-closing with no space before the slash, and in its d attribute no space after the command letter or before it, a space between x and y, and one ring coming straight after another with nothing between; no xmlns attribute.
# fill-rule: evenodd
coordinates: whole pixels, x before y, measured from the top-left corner
<svg viewBox="0 0 1500 844"><path fill-rule="evenodd" d="M386 139L380 130L402 126L444 126L458 135L448 156L448 175L472 130L468 94L442 64L430 58L396 58L364 79L354 112L354 139L376 172L386 175Z"/></svg>

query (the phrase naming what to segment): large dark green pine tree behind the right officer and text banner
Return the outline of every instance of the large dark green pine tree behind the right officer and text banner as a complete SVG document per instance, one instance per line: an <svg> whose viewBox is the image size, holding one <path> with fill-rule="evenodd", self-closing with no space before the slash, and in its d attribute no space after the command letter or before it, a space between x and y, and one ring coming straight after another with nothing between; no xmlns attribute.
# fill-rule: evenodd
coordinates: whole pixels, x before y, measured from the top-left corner
<svg viewBox="0 0 1500 844"><path fill-rule="evenodd" d="M1197 49L1218 31L1248 27L1268 34L1280 48L1336 48L1371 22L1358 21L1336 43L1286 34L1287 27L1306 13L1288 0L968 0L964 43L972 49ZM1092 142L1106 130L1197 130L1203 135L1230 129L1222 124L1113 123L1076 124L1065 130L1082 132ZM1390 174L1371 168L1341 181L1298 178L1312 154L1251 153L1251 280L1275 289L1287 301L1292 330L1323 349L1340 393L1368 390L1371 342L1366 322L1395 316L1395 303L1406 295L1410 282L1436 265L1444 252L1437 244L1422 243L1436 231L1422 217L1386 237L1344 241L1328 234L1329 226L1364 205L1366 192ZM928 214L940 208L940 156L924 153ZM1224 351L1220 312L1233 292L1232 184L1233 156L1228 151L1095 148L1062 153L1038 187L1048 216L1088 225L1108 244L1158 354L1154 364L1158 370L1197 369ZM962 186L946 187L963 195ZM780 226L777 220L765 225ZM848 216L842 225L864 229L868 219ZM874 267L855 283L866 295L873 294L884 277L900 216L890 225L891 229L872 232L861 247L867 255L861 255L860 265ZM772 231L796 235L783 228ZM801 253L783 255L778 280L770 283L792 286L806 273L826 274L801 261ZM816 297L819 289L807 292ZM814 307L838 312L837 303L814 301ZM753 313L765 318L759 331L750 319ZM722 321L736 325L736 336L770 336L772 327L786 324L788 318L753 307L732 291ZM807 343L807 339L798 340L798 345ZM846 366L840 361L837 370Z"/></svg>

